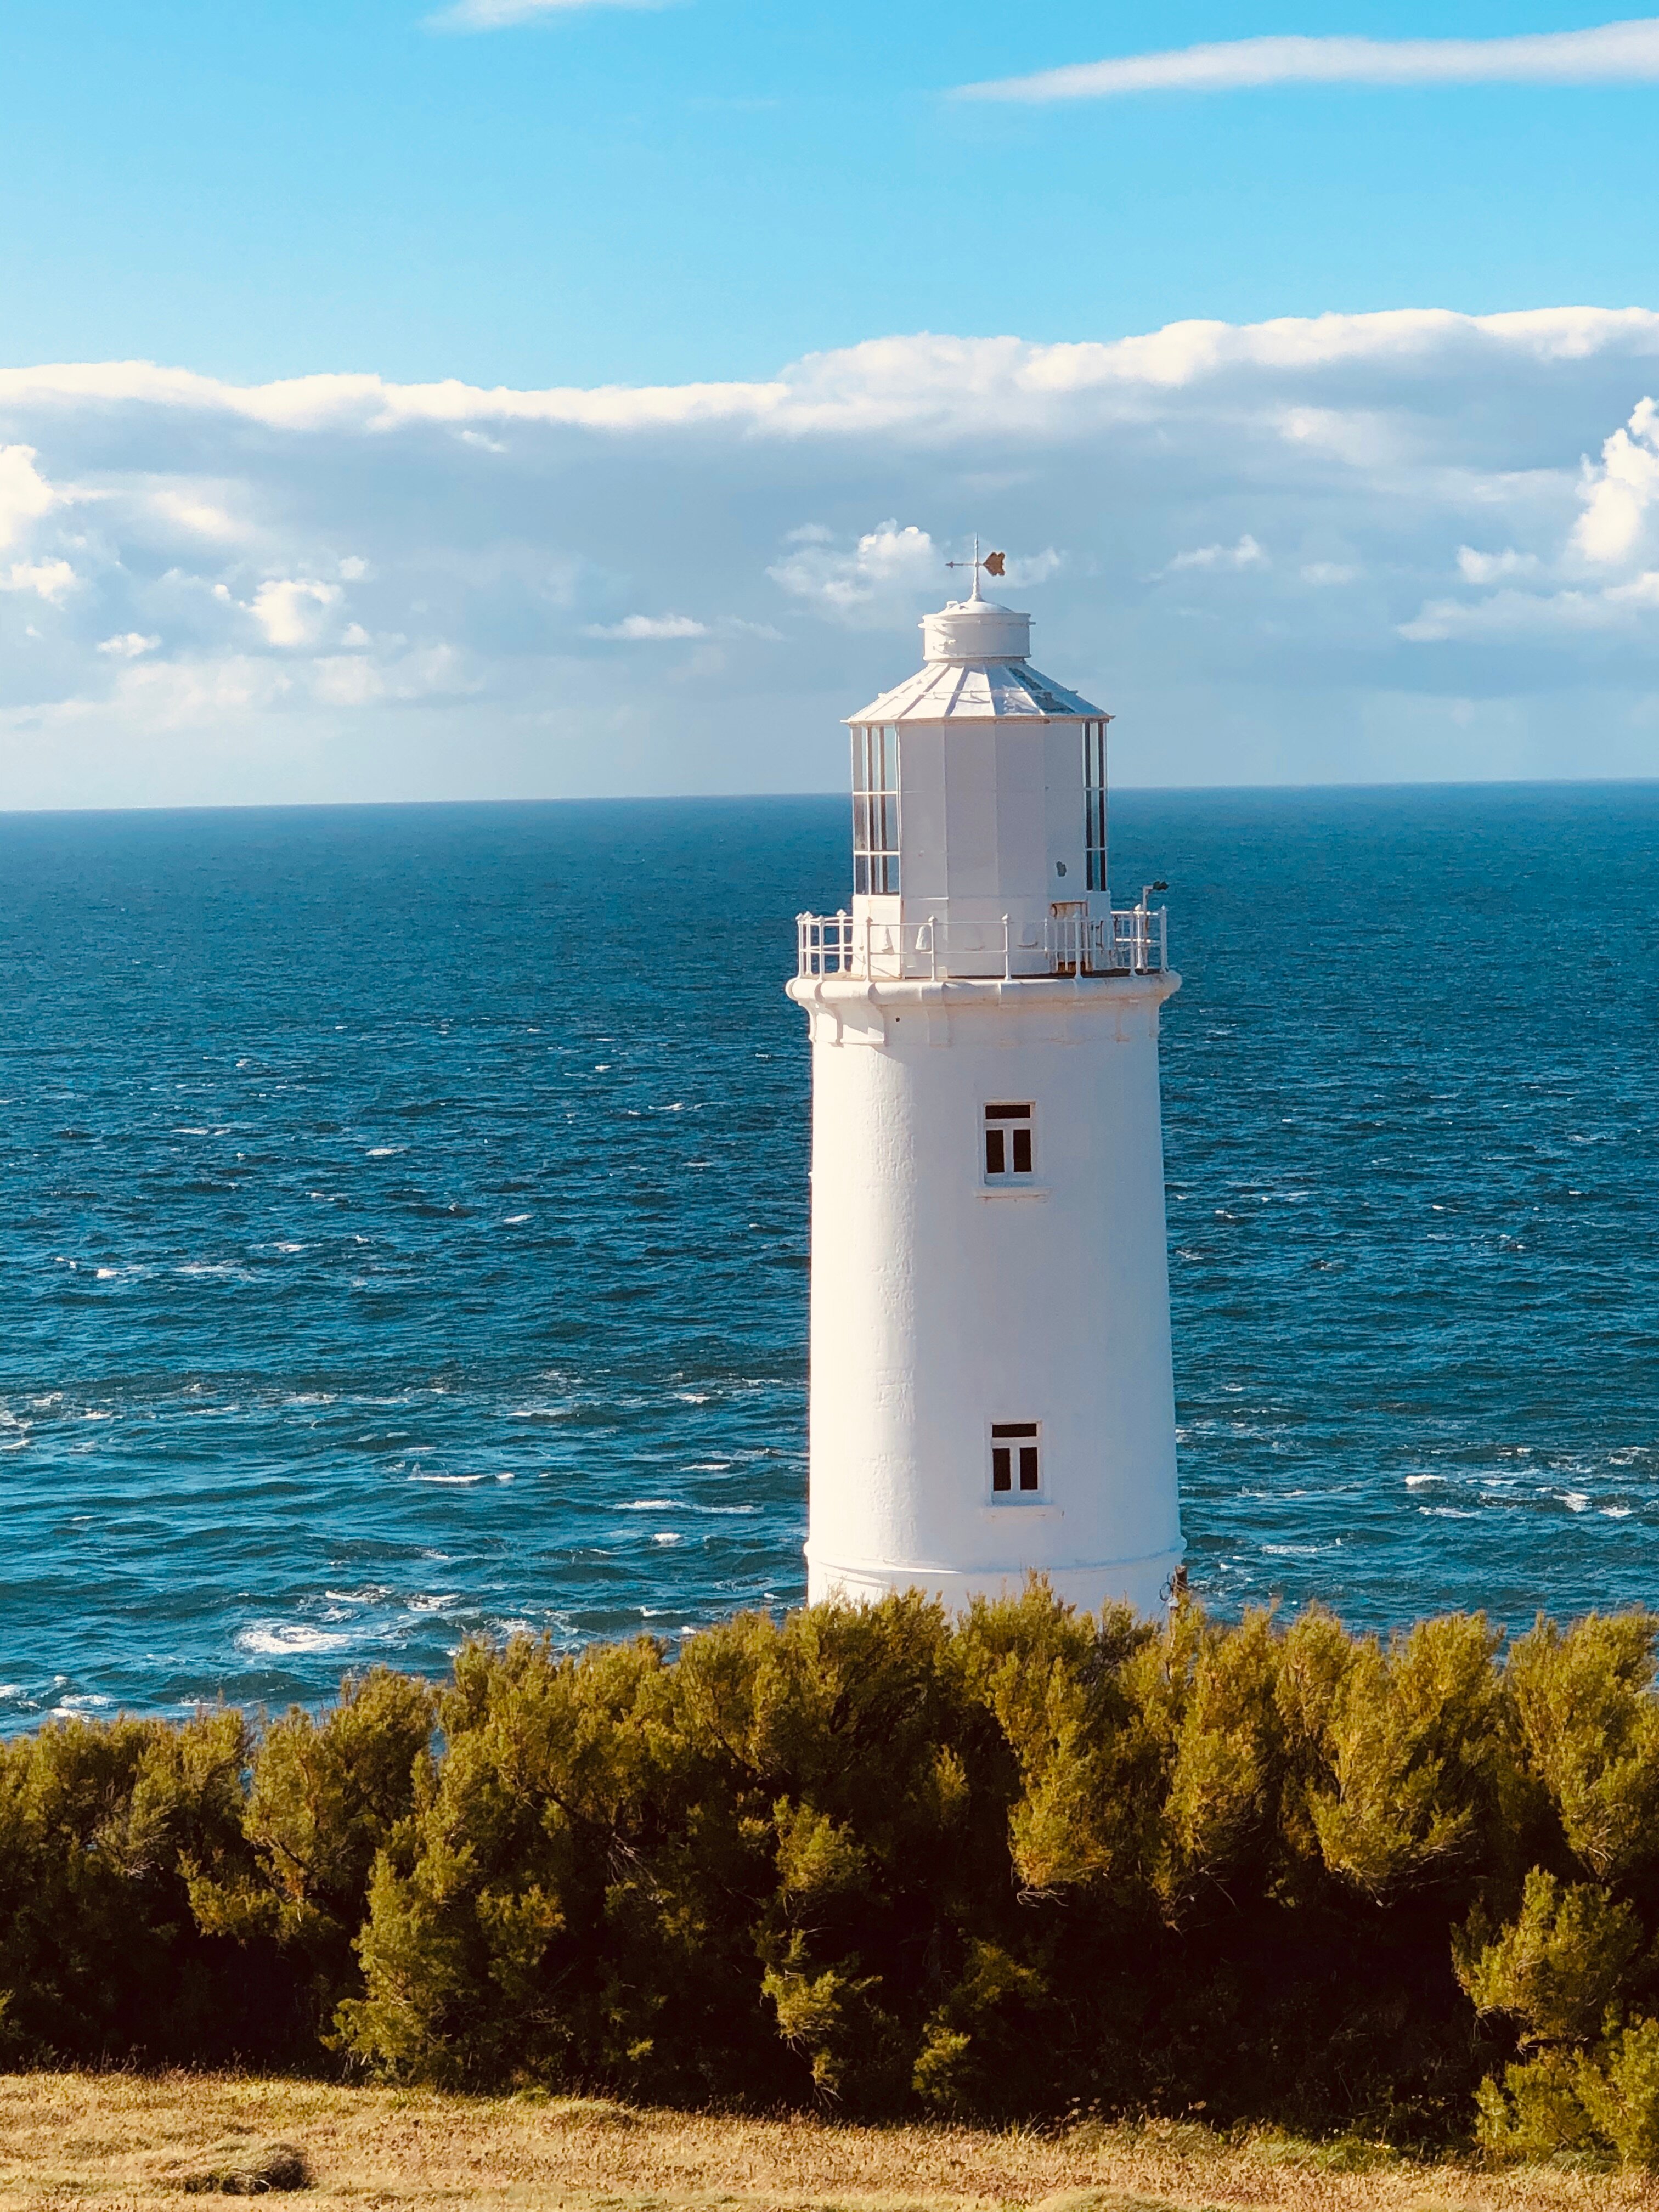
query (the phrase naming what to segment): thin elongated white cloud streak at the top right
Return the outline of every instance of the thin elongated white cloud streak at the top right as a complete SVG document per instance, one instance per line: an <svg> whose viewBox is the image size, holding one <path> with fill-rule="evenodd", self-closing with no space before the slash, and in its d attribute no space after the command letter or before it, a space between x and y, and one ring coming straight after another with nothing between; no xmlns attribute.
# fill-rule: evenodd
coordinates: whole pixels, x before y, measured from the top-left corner
<svg viewBox="0 0 1659 2212"><path fill-rule="evenodd" d="M1029 77L964 84L967 100L1115 100L1263 84L1632 84L1659 77L1659 18L1520 38L1232 38Z"/></svg>

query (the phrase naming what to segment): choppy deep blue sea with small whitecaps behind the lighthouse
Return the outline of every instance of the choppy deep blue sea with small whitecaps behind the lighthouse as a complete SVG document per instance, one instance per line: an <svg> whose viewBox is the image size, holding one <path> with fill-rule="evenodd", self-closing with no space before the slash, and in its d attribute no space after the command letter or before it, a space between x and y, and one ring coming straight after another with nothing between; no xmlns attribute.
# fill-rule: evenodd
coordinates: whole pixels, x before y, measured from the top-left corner
<svg viewBox="0 0 1659 2212"><path fill-rule="evenodd" d="M843 801L0 821L0 1725L803 1593ZM1192 1582L1659 1599L1659 785L1126 794ZM1126 1285L1133 1290L1133 1285Z"/></svg>

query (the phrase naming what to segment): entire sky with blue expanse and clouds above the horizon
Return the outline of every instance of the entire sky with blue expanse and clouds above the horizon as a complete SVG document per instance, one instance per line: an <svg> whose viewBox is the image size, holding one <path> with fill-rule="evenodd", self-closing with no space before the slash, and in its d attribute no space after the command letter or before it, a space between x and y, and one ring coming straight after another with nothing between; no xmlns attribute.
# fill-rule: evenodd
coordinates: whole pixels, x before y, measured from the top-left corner
<svg viewBox="0 0 1659 2212"><path fill-rule="evenodd" d="M1659 772L1659 22L7 0L0 805Z"/></svg>

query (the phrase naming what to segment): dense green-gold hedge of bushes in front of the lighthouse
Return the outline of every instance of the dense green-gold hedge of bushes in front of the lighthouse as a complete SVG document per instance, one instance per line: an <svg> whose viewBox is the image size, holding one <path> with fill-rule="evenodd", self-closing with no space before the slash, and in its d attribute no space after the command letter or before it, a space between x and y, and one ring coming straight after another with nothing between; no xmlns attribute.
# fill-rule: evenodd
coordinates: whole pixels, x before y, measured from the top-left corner
<svg viewBox="0 0 1659 2212"><path fill-rule="evenodd" d="M1659 1617L1033 1584L0 1747L0 2062L1659 2163Z"/></svg>

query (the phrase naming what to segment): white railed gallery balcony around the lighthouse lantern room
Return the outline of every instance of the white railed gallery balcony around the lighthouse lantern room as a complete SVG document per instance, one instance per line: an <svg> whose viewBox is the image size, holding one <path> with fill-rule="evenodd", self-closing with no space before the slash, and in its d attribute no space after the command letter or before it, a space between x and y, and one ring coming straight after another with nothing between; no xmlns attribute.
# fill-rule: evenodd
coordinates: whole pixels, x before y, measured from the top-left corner
<svg viewBox="0 0 1659 2212"><path fill-rule="evenodd" d="M796 975L867 982L1004 980L1015 975L1161 975L1168 909L1053 914L1044 922L876 920L872 914L799 914Z"/></svg>

